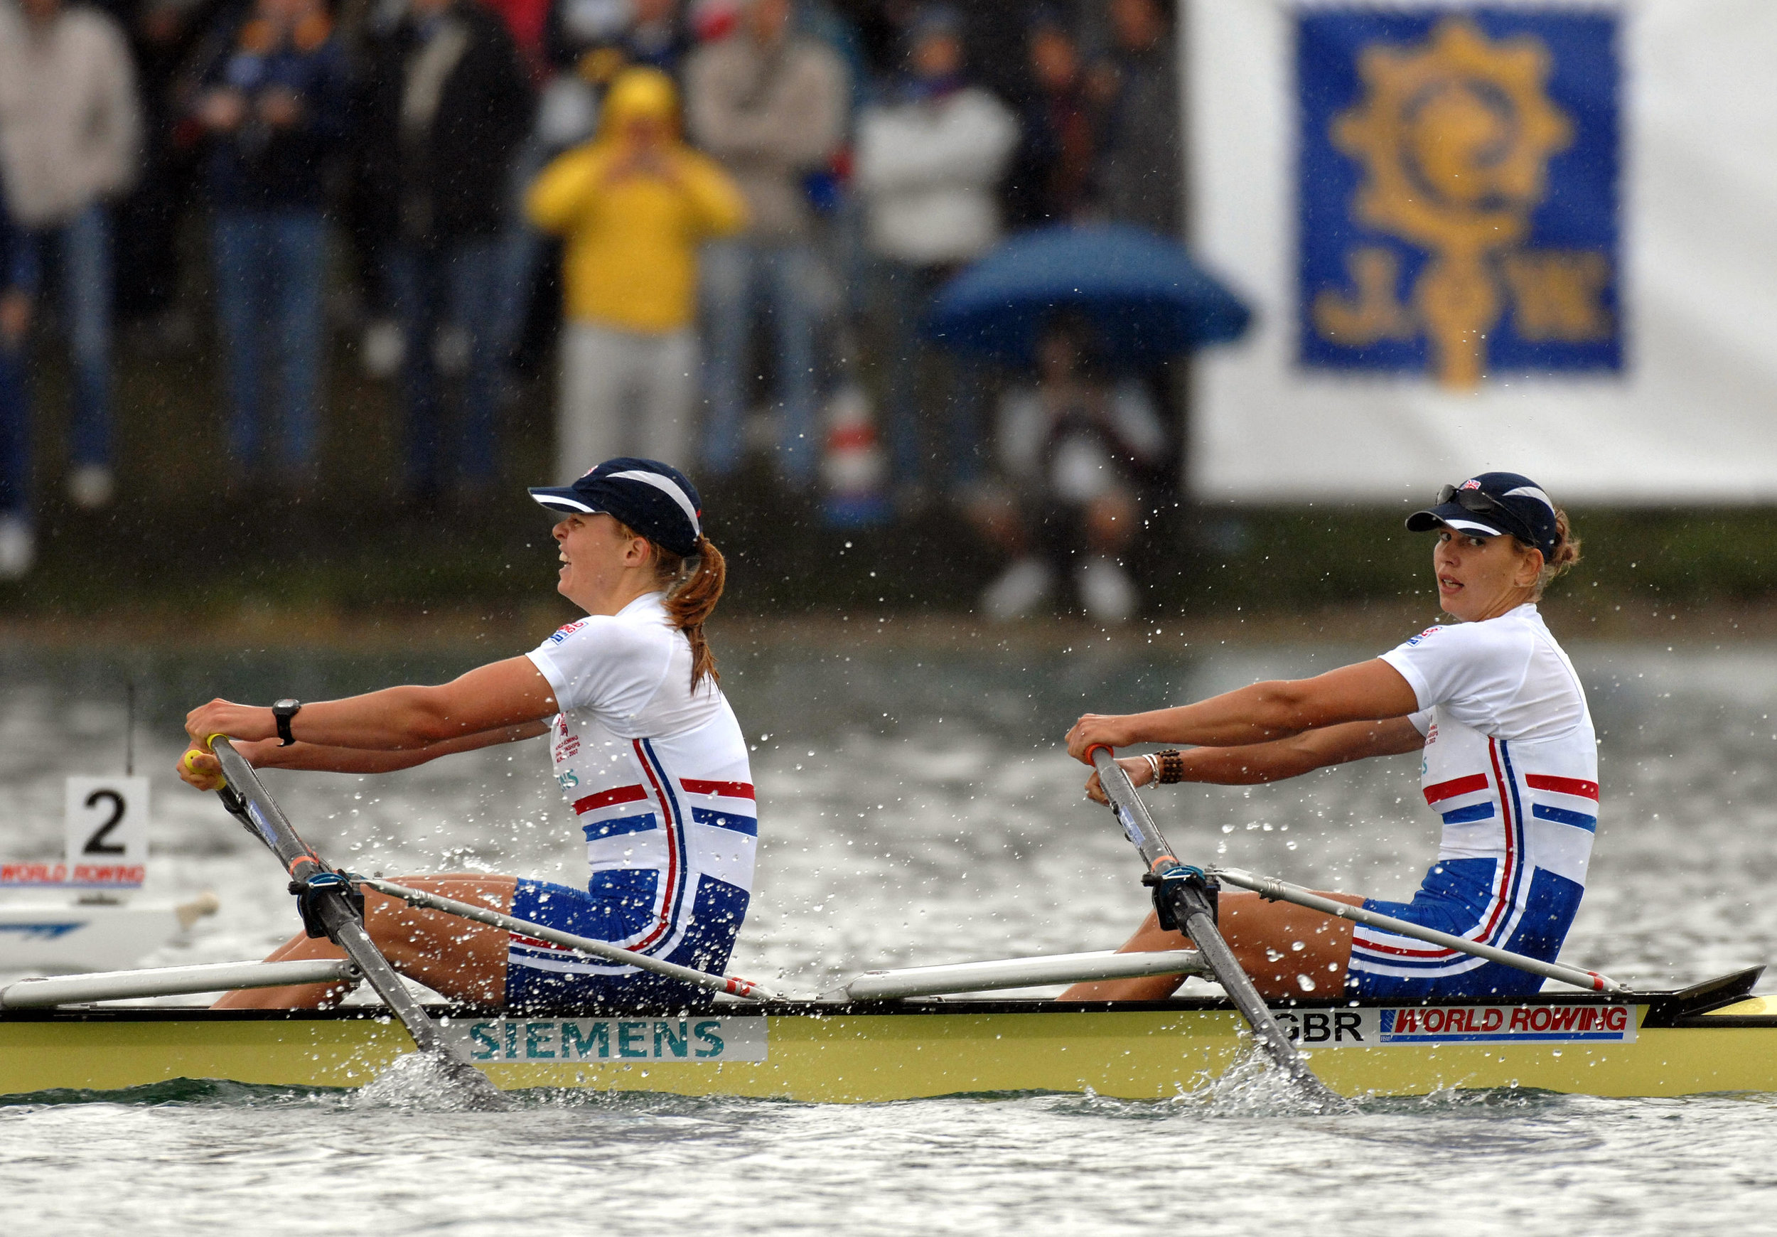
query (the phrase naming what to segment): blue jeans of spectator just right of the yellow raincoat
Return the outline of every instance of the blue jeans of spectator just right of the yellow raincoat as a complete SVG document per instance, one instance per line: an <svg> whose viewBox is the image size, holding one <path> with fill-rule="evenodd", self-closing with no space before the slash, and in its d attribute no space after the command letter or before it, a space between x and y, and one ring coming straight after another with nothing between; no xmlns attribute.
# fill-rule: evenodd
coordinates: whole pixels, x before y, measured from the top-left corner
<svg viewBox="0 0 1777 1237"><path fill-rule="evenodd" d="M725 476L741 464L746 412L746 343L761 291L777 336L777 400L782 409L784 475L800 487L814 482L821 451L814 418L814 306L809 300L814 251L803 243L762 245L727 240L702 258L709 309L709 423L704 464Z"/></svg>

